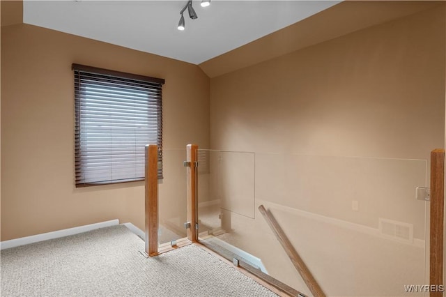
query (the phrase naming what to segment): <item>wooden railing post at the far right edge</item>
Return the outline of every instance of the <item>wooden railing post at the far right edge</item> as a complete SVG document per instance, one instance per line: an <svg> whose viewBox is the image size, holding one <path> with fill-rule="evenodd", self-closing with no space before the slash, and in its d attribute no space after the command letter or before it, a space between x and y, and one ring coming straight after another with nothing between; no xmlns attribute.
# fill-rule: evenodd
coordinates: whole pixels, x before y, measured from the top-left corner
<svg viewBox="0 0 446 297"><path fill-rule="evenodd" d="M431 232L429 282L434 288L443 286L443 232L445 207L445 150L431 151ZM433 289L430 296L443 296Z"/></svg>

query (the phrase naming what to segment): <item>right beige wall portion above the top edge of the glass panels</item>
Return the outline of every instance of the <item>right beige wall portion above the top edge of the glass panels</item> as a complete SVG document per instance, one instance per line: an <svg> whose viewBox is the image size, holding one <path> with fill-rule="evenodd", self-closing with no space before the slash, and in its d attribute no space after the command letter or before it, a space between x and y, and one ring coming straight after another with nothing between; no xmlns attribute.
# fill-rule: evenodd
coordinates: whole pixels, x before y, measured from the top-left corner
<svg viewBox="0 0 446 297"><path fill-rule="evenodd" d="M211 79L211 146L428 158L444 144L443 10Z"/></svg>

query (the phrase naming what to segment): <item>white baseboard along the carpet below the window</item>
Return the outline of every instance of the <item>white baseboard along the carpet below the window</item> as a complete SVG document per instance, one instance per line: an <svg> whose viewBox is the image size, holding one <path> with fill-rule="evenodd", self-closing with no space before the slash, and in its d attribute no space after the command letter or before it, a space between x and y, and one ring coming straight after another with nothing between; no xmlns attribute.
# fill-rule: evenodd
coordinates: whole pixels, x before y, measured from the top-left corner
<svg viewBox="0 0 446 297"><path fill-rule="evenodd" d="M104 227L110 227L119 224L119 220L109 220L106 222L98 222L95 224L86 224L84 226L73 227L69 229L63 229L58 231L47 232L43 234L36 234L32 236L26 236L22 238L11 239L10 241L1 241L0 250L5 250L7 248L15 248L20 245L28 245L30 243L38 243L39 241L47 241L49 239L75 235L79 233L84 233L94 229L100 229ZM136 227L135 227L136 228Z"/></svg>

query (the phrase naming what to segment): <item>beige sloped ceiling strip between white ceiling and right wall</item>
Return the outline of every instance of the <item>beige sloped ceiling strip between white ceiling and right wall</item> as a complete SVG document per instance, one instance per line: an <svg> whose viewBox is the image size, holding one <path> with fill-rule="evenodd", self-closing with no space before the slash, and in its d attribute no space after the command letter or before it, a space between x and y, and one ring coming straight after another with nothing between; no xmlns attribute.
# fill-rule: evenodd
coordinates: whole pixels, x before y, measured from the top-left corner
<svg viewBox="0 0 446 297"><path fill-rule="evenodd" d="M199 64L208 77L255 65L444 1L342 1L326 10Z"/></svg>

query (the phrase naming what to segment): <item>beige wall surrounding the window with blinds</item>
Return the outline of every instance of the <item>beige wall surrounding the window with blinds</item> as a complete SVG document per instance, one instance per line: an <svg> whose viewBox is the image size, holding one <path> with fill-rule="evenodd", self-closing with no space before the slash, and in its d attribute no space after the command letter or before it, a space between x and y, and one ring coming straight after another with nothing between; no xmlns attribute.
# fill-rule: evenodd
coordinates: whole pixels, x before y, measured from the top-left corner
<svg viewBox="0 0 446 297"><path fill-rule="evenodd" d="M144 183L75 188L72 63L164 78L164 148L209 145L209 78L198 66L37 26L3 26L1 241L116 218L144 229ZM174 183L167 175L161 188Z"/></svg>

